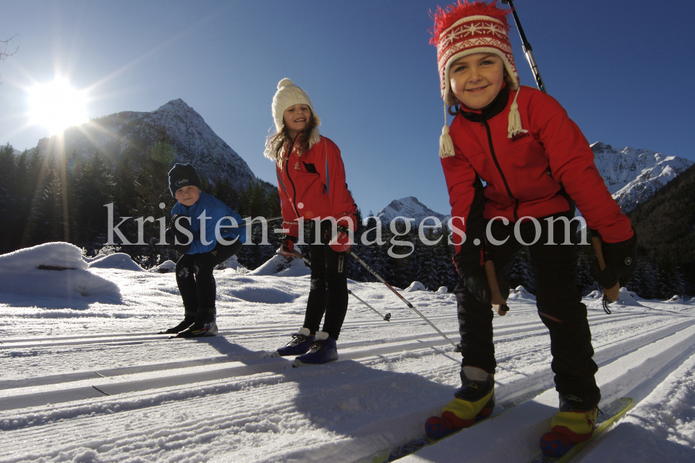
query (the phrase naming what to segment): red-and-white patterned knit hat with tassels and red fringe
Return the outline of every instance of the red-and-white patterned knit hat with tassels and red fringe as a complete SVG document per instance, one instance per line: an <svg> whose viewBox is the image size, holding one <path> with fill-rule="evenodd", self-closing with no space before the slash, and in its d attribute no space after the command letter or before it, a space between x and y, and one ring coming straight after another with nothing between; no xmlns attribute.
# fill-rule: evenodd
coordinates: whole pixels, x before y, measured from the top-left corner
<svg viewBox="0 0 695 463"><path fill-rule="evenodd" d="M432 32L430 43L436 45L441 96L445 104L445 124L439 140L441 157L454 155L454 147L446 126L446 106L456 104L456 96L451 91L448 78L449 67L452 63L463 56L475 53L495 54L500 57L507 70L505 81L509 90L514 91L519 88L512 44L509 42L507 15L510 11L498 7L497 0L491 3L484 1L469 3L468 0L457 0L457 3L446 9L437 8L434 12L434 27L430 29ZM518 116L516 97L512 112ZM509 133L512 131L514 133L509 135L510 137L521 131L521 120L519 120L518 131L516 127L512 127L511 120L512 114L510 114Z"/></svg>

